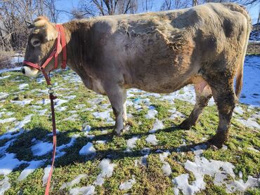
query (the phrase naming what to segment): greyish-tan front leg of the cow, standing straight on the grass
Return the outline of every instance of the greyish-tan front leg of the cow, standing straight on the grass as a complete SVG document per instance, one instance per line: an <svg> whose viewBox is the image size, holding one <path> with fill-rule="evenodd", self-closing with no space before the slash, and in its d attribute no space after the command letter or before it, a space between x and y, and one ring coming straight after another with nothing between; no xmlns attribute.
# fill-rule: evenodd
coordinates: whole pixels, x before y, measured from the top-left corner
<svg viewBox="0 0 260 195"><path fill-rule="evenodd" d="M119 86L112 87L107 94L115 115L115 134L121 135L126 121L126 90Z"/></svg>

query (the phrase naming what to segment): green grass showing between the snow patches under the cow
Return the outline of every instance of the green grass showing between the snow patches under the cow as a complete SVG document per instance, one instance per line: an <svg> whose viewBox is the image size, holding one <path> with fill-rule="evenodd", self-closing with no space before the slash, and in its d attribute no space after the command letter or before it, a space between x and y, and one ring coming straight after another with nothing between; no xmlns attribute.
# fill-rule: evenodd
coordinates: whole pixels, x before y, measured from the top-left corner
<svg viewBox="0 0 260 195"><path fill-rule="evenodd" d="M8 175L11 188L6 191L6 194L44 194L44 187L42 186L41 178L44 175L44 168L50 163L51 153L44 156L33 156L30 147L33 145L31 140L36 138L37 140L44 140L45 142L51 142L52 137L46 136L51 133L51 118L49 116L49 105L40 105L41 109L48 109L46 115L39 116L39 114L32 109L32 105L37 105L39 100L48 98L47 93L40 93L39 90L45 90L45 83L37 83L37 79L27 78L21 76L19 73L11 72L4 73L1 76L11 75L7 79L0 79L0 91L9 93L6 100L0 102L0 112L13 112L11 116L3 114L1 119L7 119L14 117L17 121L21 121L28 114L34 114L30 123L25 125L25 133L22 133L13 144L8 147L7 152L15 153L19 160L32 161L48 159L44 166L37 168L32 174L30 174L25 180L18 181L18 177L25 168L25 165L21 165L16 168L11 174ZM112 163L117 166L112 174L112 177L105 179L105 183L102 186L96 186L96 194L173 194L174 184L171 180L183 173L189 173L185 170L183 163L187 160L194 161L194 154L190 151L190 146L193 144L199 144L203 142L204 137L212 137L218 124L218 115L216 107L206 107L200 121L196 126L190 130L182 130L178 128L178 124L183 121L181 118L177 118L174 121L169 119L171 113L168 109L176 108L178 112L181 112L188 116L193 105L181 100L175 100L174 105L171 105L167 100L160 100L160 98L149 97L152 105L157 110L157 119L162 120L164 123L164 129L157 130L155 133L157 140L159 141L156 146L152 146L145 142L145 138L149 135L148 130L152 129L152 125L155 119L146 119L148 109L145 108L141 112L137 112L133 106L128 107L128 113L133 115L129 121L131 122L131 128L122 134L122 137L115 137L112 135L112 126L101 119L95 119L91 114L95 111L103 112L102 106L109 104L108 97L102 97L103 100L99 104L91 104L89 100L100 98L100 95L93 93L91 90L87 90L82 83L70 82L74 73L71 71L60 72L53 76L52 82L57 83L55 93L58 94L58 98L65 100L64 96L77 95L76 98L65 102L62 107L66 106L67 109L63 112L56 112L57 128L60 131L58 134L58 146L70 142L70 138L74 134L78 134L77 142L70 148L65 149L66 154L56 160L55 170L53 172L51 194L68 194L68 188L60 189L61 185L65 182L70 182L77 175L86 173L88 177L82 179L79 184L75 184L73 187L84 187L96 180L96 176L100 173L98 164L101 159L109 158ZM21 83L28 83L29 87L24 91L20 91L18 86ZM63 88L63 90L61 90ZM181 91L181 93L184 93ZM135 93L135 97L140 97L143 93ZM132 99L134 99L133 97ZM33 99L29 105L25 107L20 105L14 105L11 100L25 100ZM76 109L75 106L84 104L86 107ZM86 110L96 105L94 111ZM260 109L247 109L246 105L240 105L245 114L241 116L244 119L249 119L252 114L260 112ZM71 110L74 110L78 116L74 121L64 121L69 116L72 116ZM112 115L112 109L111 113ZM236 116L238 117L238 116ZM258 123L260 123L259 119ZM90 135L96 135L93 140L90 140L82 132L82 124L86 123L91 126ZM6 129L15 127L15 123L0 124L0 134L6 133ZM102 130L106 130L105 132ZM140 139L136 142L136 147L132 152L124 152L126 149L126 142L133 136L138 136ZM240 171L242 172L242 180L247 181L249 175L258 177L260 173L260 153L247 149L248 147L260 148L259 141L259 129L247 128L243 126L235 117L232 119L232 126L230 128L229 140L226 142L228 149L206 149L203 152L203 156L207 159L214 159L218 161L228 161L235 166L234 173L236 179L239 178ZM95 144L96 140L107 140L106 144ZM178 147L183 144L183 140L186 140L187 147L184 147L183 152L177 152ZM0 140L0 147L7 142L8 139ZM96 149L96 156L93 159L87 159L86 156L79 156L79 150L86 144L86 142L93 142ZM148 156L148 166L142 166L139 163L135 166L136 160L139 161L141 156L141 150L144 147L151 149ZM163 151L169 150L171 154L165 159L171 166L172 173L169 176L165 176L162 172L162 162L160 161L159 154L155 151L161 149ZM3 154L0 154L0 158ZM1 167L1 166L0 166ZM192 173L190 174L190 182L195 180ZM136 184L126 191L119 190L119 184L131 179L132 175L135 175ZM4 176L0 175L0 180ZM197 194L226 194L225 187L216 186L213 183L212 177L205 175L204 182L206 182L206 189L198 192ZM260 194L259 189L248 189L246 194ZM235 193L237 194L237 193Z"/></svg>

